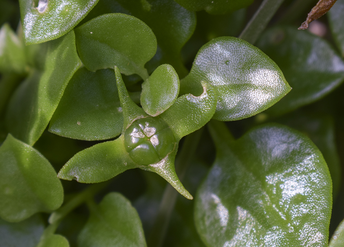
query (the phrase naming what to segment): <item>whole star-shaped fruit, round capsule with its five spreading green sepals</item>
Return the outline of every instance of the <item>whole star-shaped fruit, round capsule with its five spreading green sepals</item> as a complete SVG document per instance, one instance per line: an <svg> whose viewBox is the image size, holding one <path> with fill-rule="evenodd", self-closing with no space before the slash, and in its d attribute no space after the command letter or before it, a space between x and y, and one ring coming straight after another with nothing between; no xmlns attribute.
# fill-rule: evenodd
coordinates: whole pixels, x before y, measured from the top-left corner
<svg viewBox="0 0 344 247"><path fill-rule="evenodd" d="M58 177L98 183L125 170L141 168L159 174L180 194L192 199L175 173L174 159L180 139L212 118L217 103L216 89L202 81L200 96L178 97L178 75L171 65L161 65L142 86L141 108L129 97L119 68L114 66L114 69L123 113L121 136L75 154Z"/></svg>

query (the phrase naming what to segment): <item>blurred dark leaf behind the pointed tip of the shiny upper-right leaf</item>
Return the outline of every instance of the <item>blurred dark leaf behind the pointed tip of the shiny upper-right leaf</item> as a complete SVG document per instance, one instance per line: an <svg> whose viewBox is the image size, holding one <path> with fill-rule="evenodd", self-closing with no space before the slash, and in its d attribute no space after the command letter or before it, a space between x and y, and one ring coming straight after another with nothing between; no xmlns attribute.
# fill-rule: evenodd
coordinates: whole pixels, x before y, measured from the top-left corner
<svg viewBox="0 0 344 247"><path fill-rule="evenodd" d="M268 110L279 115L310 104L344 80L344 62L323 39L293 27L266 31L257 42L283 71L293 90Z"/></svg>

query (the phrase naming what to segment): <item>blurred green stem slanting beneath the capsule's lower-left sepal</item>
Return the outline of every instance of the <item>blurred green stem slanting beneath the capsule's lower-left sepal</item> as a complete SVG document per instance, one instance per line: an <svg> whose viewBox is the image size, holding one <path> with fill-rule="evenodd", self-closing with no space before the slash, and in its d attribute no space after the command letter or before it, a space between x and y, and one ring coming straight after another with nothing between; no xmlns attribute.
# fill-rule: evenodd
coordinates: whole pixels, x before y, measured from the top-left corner
<svg viewBox="0 0 344 247"><path fill-rule="evenodd" d="M69 200L65 205L58 208L55 212L53 212L49 217L49 223L55 224L56 222L61 221L67 214L74 210L74 208L80 206L89 198L92 198L97 192L103 190L107 185L108 181L102 183L92 184L87 187L84 191L77 194L71 200Z"/></svg>

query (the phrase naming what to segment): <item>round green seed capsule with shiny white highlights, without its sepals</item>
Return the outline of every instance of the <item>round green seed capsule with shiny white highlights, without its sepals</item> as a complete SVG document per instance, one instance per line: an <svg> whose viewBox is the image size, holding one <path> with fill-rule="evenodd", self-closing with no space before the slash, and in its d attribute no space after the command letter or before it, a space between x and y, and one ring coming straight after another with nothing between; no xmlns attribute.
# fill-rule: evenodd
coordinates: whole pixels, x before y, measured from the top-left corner
<svg viewBox="0 0 344 247"><path fill-rule="evenodd" d="M170 127L159 117L140 118L124 132L124 144L136 163L158 163L173 151L176 140Z"/></svg>

